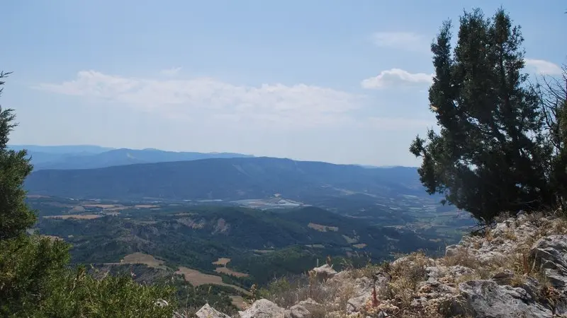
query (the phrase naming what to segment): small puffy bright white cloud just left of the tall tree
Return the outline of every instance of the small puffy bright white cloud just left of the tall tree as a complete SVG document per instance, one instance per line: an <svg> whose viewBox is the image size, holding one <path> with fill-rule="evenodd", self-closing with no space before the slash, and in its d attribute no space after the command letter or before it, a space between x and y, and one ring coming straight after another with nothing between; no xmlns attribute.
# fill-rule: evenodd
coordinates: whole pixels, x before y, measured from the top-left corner
<svg viewBox="0 0 567 318"><path fill-rule="evenodd" d="M381 89L402 86L427 86L432 83L433 74L410 73L403 69L388 69L378 76L361 81L362 88Z"/></svg>

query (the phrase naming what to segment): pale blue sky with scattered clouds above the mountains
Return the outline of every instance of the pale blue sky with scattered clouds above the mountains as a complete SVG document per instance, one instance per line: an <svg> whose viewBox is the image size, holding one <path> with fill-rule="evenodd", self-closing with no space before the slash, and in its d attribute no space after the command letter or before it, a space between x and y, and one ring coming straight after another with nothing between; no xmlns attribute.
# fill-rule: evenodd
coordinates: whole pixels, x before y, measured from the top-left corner
<svg viewBox="0 0 567 318"><path fill-rule="evenodd" d="M435 125L430 43L500 6L526 71L556 75L565 1L5 1L0 105L12 144L415 166L408 147Z"/></svg>

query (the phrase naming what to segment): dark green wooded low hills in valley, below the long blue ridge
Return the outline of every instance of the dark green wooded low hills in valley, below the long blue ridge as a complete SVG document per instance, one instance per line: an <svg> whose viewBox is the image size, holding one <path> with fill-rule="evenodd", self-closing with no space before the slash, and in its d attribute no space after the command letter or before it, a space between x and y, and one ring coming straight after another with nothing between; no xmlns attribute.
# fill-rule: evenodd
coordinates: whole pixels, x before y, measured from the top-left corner
<svg viewBox="0 0 567 318"><path fill-rule="evenodd" d="M43 202L52 207L57 204ZM447 243L434 234L383 227L315 207L272 212L85 203L82 209L69 210L61 201L60 209L71 213L56 215L55 208L51 212L38 200L31 203L40 208L40 233L72 243L76 263L113 263L127 254L143 252L169 266L217 274L214 262L226 258L231 260L230 269L250 276L240 280L245 285L266 283L274 275L301 273L327 255L364 263L418 248L436 251ZM97 212L97 206L108 209Z"/></svg>

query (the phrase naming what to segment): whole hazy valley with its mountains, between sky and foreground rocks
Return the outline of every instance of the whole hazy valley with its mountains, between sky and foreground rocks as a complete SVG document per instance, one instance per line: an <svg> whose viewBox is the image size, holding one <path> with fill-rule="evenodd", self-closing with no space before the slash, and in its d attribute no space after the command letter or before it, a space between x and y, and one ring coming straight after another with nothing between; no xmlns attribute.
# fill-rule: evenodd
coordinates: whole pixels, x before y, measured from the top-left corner
<svg viewBox="0 0 567 318"><path fill-rule="evenodd" d="M339 268L342 260L359 266L415 249L434 254L474 225L427 195L415 167L95 146L11 148L28 148L35 164L24 184L38 211L32 231L72 243L73 262L104 270L145 264L156 277L193 271L186 276L191 283L235 288L234 296L327 256ZM219 259L230 261L214 264ZM147 268L136 267L149 279Z"/></svg>

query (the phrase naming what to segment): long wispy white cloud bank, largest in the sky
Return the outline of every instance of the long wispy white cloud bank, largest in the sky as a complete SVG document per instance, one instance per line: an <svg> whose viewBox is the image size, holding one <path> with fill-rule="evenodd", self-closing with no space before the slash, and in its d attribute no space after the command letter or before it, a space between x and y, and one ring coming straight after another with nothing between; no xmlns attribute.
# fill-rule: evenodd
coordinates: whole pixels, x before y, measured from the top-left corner
<svg viewBox="0 0 567 318"><path fill-rule="evenodd" d="M364 106L364 96L297 84L238 86L214 78L159 80L79 71L63 83L37 88L62 95L96 98L167 117L215 124L308 128L349 124L349 112Z"/></svg>

